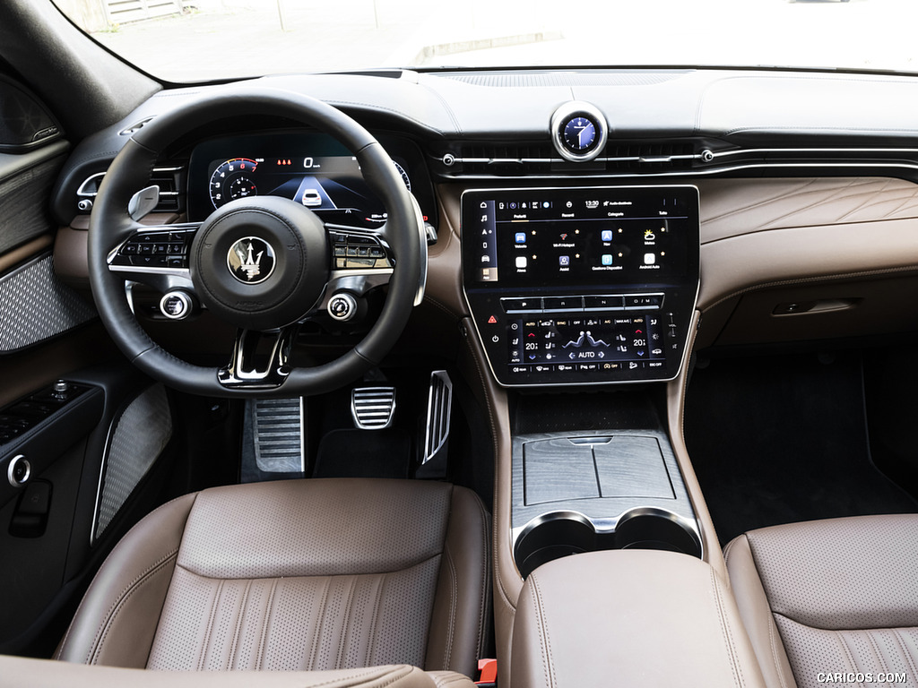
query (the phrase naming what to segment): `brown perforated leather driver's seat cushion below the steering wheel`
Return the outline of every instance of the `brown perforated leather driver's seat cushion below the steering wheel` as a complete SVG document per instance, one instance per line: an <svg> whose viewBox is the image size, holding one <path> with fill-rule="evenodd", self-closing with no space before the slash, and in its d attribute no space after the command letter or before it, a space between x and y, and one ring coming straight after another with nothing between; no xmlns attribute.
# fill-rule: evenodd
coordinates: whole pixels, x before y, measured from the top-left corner
<svg viewBox="0 0 918 688"><path fill-rule="evenodd" d="M58 659L165 670L409 664L472 675L487 513L445 483L308 480L179 497L118 544Z"/></svg>

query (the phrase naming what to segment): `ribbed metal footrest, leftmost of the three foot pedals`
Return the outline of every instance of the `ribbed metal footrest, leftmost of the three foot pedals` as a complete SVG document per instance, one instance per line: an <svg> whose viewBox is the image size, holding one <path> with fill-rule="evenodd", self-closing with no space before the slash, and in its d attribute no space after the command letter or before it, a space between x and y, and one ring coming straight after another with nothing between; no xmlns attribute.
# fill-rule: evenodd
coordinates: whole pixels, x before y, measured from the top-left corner
<svg viewBox="0 0 918 688"><path fill-rule="evenodd" d="M294 473L306 471L303 432L303 397L255 399L252 436L255 462L260 471Z"/></svg>

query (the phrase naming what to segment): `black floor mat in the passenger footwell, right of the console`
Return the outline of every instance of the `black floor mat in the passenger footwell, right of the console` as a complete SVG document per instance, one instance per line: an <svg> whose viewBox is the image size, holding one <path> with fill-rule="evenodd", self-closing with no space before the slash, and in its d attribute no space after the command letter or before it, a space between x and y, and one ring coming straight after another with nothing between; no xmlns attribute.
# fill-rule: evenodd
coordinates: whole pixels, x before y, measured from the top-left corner
<svg viewBox="0 0 918 688"><path fill-rule="evenodd" d="M693 372L685 434L721 543L756 527L918 511L870 460L860 358L720 359Z"/></svg>

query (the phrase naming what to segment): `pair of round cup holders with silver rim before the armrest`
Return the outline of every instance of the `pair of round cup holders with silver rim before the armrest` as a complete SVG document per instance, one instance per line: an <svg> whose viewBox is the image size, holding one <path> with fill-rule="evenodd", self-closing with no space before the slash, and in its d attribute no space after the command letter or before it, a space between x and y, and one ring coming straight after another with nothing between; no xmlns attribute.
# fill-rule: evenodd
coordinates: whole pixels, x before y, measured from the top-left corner
<svg viewBox="0 0 918 688"><path fill-rule="evenodd" d="M698 533L684 519L665 509L637 508L622 514L609 533L597 533L577 512L544 514L523 530L513 559L525 579L543 563L599 549L665 549L701 557Z"/></svg>

